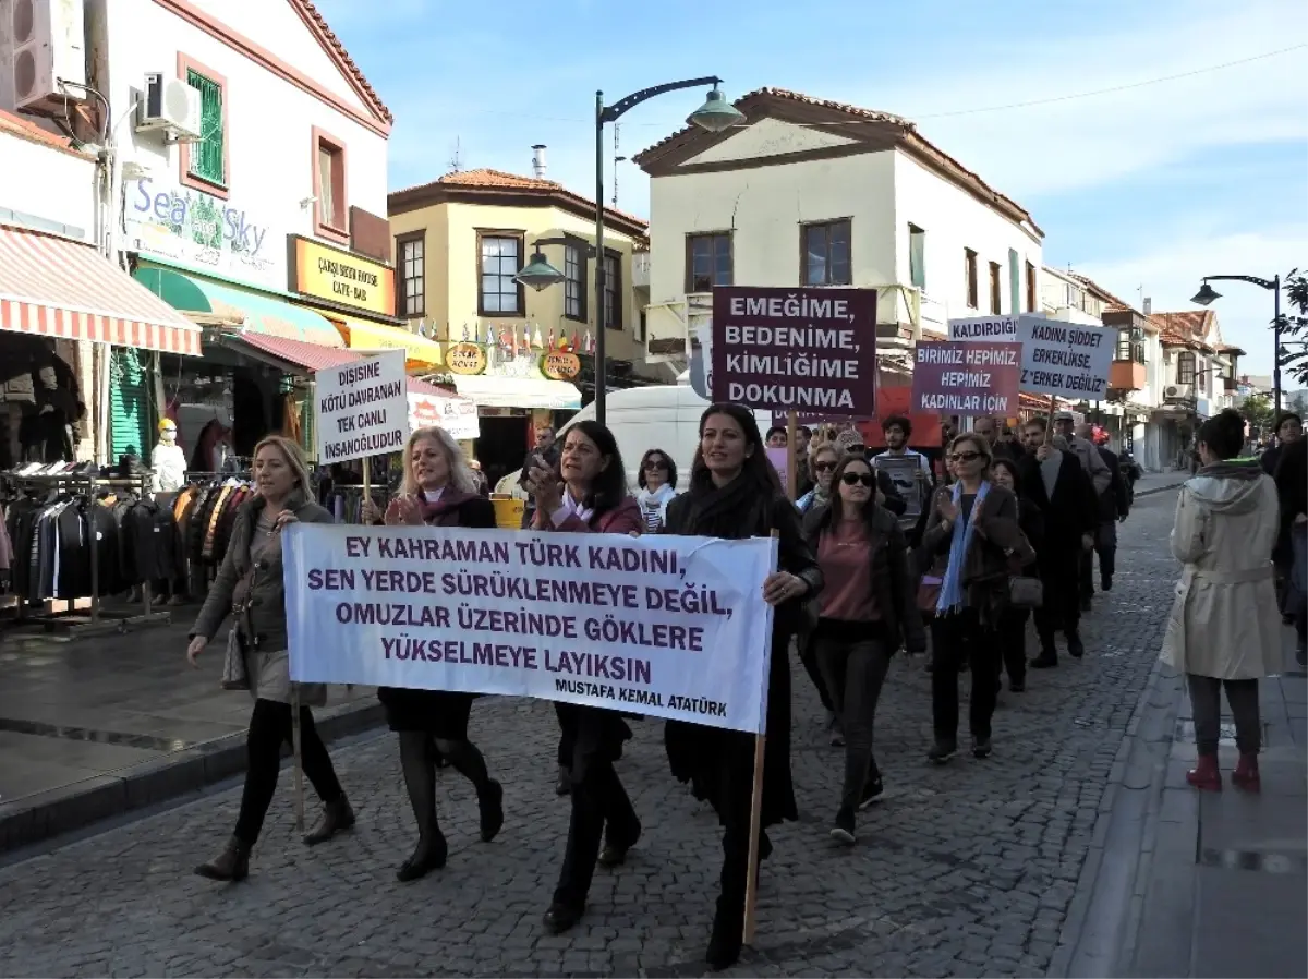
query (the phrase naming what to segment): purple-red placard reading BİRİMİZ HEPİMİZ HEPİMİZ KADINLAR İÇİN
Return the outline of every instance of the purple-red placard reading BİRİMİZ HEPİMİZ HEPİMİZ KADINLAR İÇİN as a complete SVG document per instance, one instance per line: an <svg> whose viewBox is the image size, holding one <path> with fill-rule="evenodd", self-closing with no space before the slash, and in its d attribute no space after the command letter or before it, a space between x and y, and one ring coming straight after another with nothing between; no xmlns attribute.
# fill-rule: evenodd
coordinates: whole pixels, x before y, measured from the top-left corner
<svg viewBox="0 0 1308 979"><path fill-rule="evenodd" d="M1016 418L1020 343L920 343L913 352L913 411Z"/></svg>

